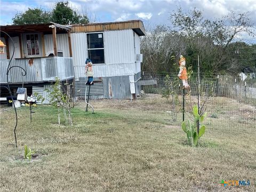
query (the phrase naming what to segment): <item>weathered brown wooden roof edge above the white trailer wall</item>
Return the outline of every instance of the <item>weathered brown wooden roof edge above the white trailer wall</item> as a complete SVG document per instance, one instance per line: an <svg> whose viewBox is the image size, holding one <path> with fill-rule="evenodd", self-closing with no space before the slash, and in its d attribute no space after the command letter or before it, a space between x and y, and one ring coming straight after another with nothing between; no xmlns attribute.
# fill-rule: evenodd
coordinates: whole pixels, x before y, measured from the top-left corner
<svg viewBox="0 0 256 192"><path fill-rule="evenodd" d="M87 33L105 30L125 30L132 29L139 36L145 35L145 28L141 20L106 22L106 23L89 23L84 25L71 25L71 33Z"/></svg>

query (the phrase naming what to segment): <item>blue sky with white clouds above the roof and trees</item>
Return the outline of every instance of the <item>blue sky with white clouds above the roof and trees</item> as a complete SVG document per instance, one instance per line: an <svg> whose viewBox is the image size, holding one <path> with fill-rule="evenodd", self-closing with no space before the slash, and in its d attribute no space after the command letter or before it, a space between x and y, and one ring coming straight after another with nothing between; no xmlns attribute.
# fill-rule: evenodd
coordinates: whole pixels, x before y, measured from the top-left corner
<svg viewBox="0 0 256 192"><path fill-rule="evenodd" d="M19 1L0 0L1 25L11 25L13 16L18 12L24 12L29 8L42 7L44 10L51 10L57 1ZM237 13L249 12L249 17L256 30L256 1L255 0L76 0L69 1L70 7L80 14L89 15L93 22L113 22L140 19L145 27L164 24L171 26L168 19L170 14L182 7L184 11L191 9L201 10L203 17L209 20L221 18L231 10ZM255 41L255 37L243 34L240 38L244 41ZM253 38L253 39L251 39Z"/></svg>

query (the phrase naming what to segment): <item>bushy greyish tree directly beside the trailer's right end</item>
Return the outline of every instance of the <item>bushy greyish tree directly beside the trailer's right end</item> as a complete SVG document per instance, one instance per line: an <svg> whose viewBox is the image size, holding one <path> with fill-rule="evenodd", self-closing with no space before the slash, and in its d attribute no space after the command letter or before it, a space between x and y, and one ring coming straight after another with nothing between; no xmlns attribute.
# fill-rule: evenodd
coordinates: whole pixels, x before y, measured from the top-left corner
<svg viewBox="0 0 256 192"><path fill-rule="evenodd" d="M141 52L143 53L142 70L144 71L175 71L178 65L174 56L178 57L183 42L180 35L171 33L166 26L158 25L147 30L141 41Z"/></svg>

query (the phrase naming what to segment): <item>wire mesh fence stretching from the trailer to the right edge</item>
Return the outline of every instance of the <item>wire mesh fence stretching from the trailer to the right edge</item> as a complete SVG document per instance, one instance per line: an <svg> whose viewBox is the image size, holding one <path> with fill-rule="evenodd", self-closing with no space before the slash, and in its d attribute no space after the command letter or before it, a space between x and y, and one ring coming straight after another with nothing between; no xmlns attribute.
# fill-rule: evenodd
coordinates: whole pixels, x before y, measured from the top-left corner
<svg viewBox="0 0 256 192"><path fill-rule="evenodd" d="M159 111L167 113L173 125L182 122L182 82L174 73L141 73L141 98L147 100L145 108L157 105ZM256 130L256 79L226 74L198 74L190 76L189 90L185 90L185 120L193 120L191 108L197 105L198 93L201 106L207 113L206 125L210 130L226 126L230 131Z"/></svg>

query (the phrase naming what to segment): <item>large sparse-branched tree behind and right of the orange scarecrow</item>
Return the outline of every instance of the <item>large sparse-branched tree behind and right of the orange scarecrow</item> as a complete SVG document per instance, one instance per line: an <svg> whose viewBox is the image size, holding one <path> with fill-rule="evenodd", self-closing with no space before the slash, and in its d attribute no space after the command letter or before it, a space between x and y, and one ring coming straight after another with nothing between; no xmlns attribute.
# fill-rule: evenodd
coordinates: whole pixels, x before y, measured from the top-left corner
<svg viewBox="0 0 256 192"><path fill-rule="evenodd" d="M181 7L170 15L173 32L184 37L186 60L196 71L197 55L200 55L204 72L230 71L241 69L241 62L234 55L230 43L241 33L253 35L251 19L248 13L237 14L231 11L225 17L209 21L203 18L195 8L188 13ZM231 49L232 47L232 49Z"/></svg>

